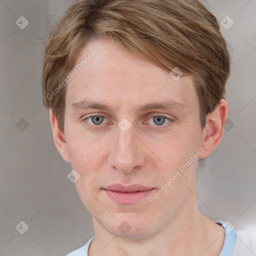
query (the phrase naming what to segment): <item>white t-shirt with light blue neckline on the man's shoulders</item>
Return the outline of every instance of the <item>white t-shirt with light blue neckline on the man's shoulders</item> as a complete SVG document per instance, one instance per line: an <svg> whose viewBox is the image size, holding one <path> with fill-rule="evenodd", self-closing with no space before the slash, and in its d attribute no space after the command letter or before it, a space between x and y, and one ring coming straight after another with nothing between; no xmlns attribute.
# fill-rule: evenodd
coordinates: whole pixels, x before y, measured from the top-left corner
<svg viewBox="0 0 256 256"><path fill-rule="evenodd" d="M222 225L225 229L225 239L223 247L220 251L219 256L255 256L256 255L256 248L252 247L255 246L256 241L252 244L248 235L242 231L232 229L228 226L225 222L219 220L215 221L216 223ZM66 256L88 256L88 248L91 241L95 238L93 236L90 238L82 247L75 249Z"/></svg>

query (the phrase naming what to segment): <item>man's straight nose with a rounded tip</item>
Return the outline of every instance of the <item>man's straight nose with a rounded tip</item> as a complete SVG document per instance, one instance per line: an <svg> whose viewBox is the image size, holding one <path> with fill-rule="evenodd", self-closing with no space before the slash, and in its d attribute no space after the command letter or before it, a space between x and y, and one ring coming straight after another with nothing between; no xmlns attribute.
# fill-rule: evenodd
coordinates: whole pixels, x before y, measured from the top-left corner
<svg viewBox="0 0 256 256"><path fill-rule="evenodd" d="M143 166L145 162L143 150L145 150L143 143L135 135L132 126L126 131L118 128L112 140L109 164L120 172L129 173Z"/></svg>

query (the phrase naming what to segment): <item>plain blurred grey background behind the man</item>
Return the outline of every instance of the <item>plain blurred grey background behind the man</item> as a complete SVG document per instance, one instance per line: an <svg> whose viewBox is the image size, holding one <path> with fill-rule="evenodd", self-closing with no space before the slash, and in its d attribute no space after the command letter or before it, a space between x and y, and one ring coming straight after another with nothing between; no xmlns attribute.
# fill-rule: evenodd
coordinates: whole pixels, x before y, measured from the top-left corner
<svg viewBox="0 0 256 256"><path fill-rule="evenodd" d="M55 148L41 98L43 40L49 22L70 2L0 0L1 256L65 255L94 235L91 216L66 177L71 168ZM232 58L228 127L199 171L198 208L256 239L256 1L202 3L219 23L228 15L234 24L220 24ZM22 15L29 21L24 29L15 24ZM21 220L29 226L24 234L15 228Z"/></svg>

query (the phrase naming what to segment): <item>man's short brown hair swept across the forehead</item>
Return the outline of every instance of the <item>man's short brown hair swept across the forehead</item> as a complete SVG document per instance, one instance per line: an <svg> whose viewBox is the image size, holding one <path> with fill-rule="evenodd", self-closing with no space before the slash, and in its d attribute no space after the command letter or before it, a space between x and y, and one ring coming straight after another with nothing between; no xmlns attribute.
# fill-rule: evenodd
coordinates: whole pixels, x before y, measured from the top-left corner
<svg viewBox="0 0 256 256"><path fill-rule="evenodd" d="M224 98L229 53L215 16L199 1L76 0L51 30L43 55L43 103L62 132L66 86L54 90L93 38L111 40L166 71L178 67L193 75L201 128Z"/></svg>

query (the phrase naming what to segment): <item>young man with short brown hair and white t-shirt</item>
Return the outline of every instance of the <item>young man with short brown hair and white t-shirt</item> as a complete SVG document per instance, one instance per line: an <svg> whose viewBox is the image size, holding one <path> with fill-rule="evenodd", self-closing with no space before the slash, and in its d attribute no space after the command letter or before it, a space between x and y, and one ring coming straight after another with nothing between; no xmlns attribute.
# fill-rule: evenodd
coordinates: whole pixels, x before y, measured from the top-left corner
<svg viewBox="0 0 256 256"><path fill-rule="evenodd" d="M43 101L95 231L69 256L241 252L195 196L198 161L223 136L228 74L219 25L198 1L77 0L65 11L44 50Z"/></svg>

